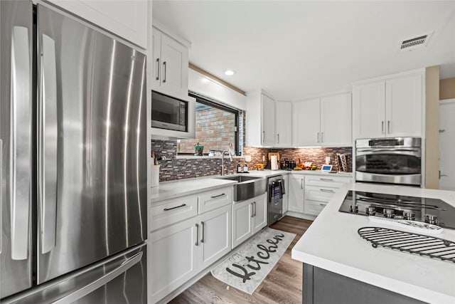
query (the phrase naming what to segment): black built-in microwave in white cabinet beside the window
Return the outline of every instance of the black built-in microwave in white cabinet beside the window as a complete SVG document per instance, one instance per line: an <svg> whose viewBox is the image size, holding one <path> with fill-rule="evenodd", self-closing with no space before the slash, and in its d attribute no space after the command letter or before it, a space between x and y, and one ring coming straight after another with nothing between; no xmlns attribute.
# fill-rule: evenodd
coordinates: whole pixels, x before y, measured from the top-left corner
<svg viewBox="0 0 455 304"><path fill-rule="evenodd" d="M151 127L188 131L188 102L151 91Z"/></svg>

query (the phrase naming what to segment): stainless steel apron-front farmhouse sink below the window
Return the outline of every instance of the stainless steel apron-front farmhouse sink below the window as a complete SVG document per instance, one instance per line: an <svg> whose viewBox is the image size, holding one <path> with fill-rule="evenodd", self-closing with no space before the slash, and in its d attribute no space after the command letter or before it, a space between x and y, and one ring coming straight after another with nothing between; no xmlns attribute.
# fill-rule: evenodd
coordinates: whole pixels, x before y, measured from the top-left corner
<svg viewBox="0 0 455 304"><path fill-rule="evenodd" d="M230 179L234 184L234 201L243 201L263 194L267 191L267 179L264 177L247 177L245 175L228 175L216 177L217 179Z"/></svg>

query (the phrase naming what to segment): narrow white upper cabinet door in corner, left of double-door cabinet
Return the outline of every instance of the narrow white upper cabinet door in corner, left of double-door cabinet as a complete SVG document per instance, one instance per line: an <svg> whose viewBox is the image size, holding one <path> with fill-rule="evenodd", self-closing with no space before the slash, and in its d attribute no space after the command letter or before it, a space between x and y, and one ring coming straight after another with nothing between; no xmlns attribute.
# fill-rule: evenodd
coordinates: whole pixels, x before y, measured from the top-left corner
<svg viewBox="0 0 455 304"><path fill-rule="evenodd" d="M277 133L275 147L292 146L292 103L279 102L275 103L277 120L275 123L275 132Z"/></svg>

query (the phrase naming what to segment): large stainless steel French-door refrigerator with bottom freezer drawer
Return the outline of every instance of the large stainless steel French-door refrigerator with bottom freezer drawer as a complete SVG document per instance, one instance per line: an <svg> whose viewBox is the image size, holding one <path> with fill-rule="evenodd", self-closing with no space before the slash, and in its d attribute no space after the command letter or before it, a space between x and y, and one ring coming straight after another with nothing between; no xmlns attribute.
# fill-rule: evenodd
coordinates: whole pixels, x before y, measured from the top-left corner
<svg viewBox="0 0 455 304"><path fill-rule="evenodd" d="M1 303L146 303L146 58L0 1Z"/></svg>

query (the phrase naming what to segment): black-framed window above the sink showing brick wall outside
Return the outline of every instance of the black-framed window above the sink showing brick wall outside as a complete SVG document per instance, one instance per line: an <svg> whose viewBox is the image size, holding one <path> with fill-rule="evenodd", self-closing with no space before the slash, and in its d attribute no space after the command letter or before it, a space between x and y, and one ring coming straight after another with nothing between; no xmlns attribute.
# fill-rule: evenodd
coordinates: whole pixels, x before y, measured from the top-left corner
<svg viewBox="0 0 455 304"><path fill-rule="evenodd" d="M196 139L179 140L177 153L194 155L194 146L199 144L207 155L210 151L227 150L231 143L235 154L239 155L242 152L239 143L241 111L197 95L190 96L196 98Z"/></svg>

